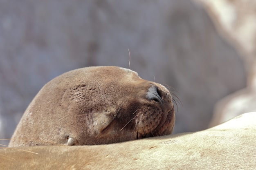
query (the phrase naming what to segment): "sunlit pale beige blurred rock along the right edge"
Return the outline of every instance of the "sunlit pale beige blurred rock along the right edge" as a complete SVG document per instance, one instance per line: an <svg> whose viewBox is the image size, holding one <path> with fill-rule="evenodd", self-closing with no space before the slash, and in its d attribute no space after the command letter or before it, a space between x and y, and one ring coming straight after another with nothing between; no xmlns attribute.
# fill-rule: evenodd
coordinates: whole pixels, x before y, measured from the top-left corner
<svg viewBox="0 0 256 170"><path fill-rule="evenodd" d="M256 1L196 0L202 3L220 33L242 54L247 87L221 99L210 126L256 111Z"/></svg>

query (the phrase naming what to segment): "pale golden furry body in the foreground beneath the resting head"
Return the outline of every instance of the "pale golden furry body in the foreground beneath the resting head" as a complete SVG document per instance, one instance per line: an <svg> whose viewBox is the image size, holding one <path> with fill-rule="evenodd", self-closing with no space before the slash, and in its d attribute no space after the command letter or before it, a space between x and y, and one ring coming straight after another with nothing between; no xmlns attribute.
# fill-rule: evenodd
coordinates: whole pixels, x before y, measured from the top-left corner
<svg viewBox="0 0 256 170"><path fill-rule="evenodd" d="M200 132L97 146L19 147L0 150L4 170L253 170L256 113ZM13 160L15 159L15 160Z"/></svg>

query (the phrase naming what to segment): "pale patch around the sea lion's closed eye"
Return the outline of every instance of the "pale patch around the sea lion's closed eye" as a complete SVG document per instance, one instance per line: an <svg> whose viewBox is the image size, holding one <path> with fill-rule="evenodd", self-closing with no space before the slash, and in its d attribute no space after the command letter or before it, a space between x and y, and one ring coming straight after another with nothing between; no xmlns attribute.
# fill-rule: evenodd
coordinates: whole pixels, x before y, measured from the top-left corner
<svg viewBox="0 0 256 170"><path fill-rule="evenodd" d="M92 129L99 135L116 117L116 110L106 109L99 113L92 114Z"/></svg>

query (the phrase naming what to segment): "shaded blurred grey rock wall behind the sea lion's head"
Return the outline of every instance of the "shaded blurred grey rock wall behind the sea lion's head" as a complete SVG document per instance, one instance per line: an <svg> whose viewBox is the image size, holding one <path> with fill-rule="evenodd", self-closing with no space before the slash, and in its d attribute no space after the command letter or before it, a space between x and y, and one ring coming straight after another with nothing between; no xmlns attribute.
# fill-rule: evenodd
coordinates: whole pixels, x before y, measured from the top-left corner
<svg viewBox="0 0 256 170"><path fill-rule="evenodd" d="M128 68L128 48L131 69L182 102L174 132L207 128L216 102L245 88L247 72L202 3L0 0L0 139L49 80L85 66Z"/></svg>

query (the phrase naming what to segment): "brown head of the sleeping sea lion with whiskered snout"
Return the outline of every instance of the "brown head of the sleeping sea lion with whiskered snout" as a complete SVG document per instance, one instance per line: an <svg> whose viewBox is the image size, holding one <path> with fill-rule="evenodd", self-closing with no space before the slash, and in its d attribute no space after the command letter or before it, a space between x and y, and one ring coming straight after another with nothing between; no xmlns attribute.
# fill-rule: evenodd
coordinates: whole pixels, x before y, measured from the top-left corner
<svg viewBox="0 0 256 170"><path fill-rule="evenodd" d="M64 73L34 97L9 147L95 145L169 135L175 123L171 93L117 66Z"/></svg>

